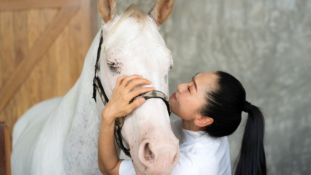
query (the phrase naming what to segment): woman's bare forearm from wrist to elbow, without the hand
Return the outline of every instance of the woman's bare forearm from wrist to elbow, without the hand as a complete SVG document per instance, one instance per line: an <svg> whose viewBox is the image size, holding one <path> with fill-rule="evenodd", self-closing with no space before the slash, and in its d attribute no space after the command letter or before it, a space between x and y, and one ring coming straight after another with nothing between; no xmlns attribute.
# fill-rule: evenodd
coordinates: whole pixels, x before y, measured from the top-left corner
<svg viewBox="0 0 311 175"><path fill-rule="evenodd" d="M119 175L120 160L114 144L114 121L101 119L98 135L98 167L103 174Z"/></svg>

